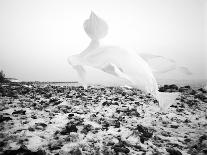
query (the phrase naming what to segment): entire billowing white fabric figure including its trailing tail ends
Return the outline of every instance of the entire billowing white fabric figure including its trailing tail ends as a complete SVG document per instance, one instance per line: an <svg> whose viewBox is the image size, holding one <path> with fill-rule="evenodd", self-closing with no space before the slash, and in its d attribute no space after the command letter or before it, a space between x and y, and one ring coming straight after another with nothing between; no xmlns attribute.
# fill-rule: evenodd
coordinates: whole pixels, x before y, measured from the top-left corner
<svg viewBox="0 0 207 155"><path fill-rule="evenodd" d="M185 74L191 74L187 68L177 66L172 59L146 53L138 55L134 50L117 46L102 46L100 39L107 35L108 26L103 19L93 12L83 26L85 32L91 38L91 43L80 54L70 56L68 63L77 71L84 86L87 86L87 84L100 84L135 87L152 94L159 102L162 102L160 103L161 107L164 107L167 104L166 102L169 101L165 100L163 96L169 96L170 94L160 95L159 93L158 95L158 85L153 71L166 73L179 69ZM162 69L153 68L148 62L157 58L168 61L170 65ZM93 74L91 74L91 70L93 70ZM99 75L107 74L108 77L104 79L100 77L94 80L93 77L97 77L94 73ZM175 97L173 96L172 98L174 100ZM172 100L169 105L173 104Z"/></svg>

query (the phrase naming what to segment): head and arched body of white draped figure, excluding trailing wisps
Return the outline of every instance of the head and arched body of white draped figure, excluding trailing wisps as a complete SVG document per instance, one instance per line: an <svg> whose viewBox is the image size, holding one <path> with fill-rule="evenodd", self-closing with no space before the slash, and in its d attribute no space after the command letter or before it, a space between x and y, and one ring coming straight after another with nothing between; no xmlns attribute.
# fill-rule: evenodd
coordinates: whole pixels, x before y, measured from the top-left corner
<svg viewBox="0 0 207 155"><path fill-rule="evenodd" d="M144 59L132 50L100 45L99 40L108 32L108 26L103 19L92 12L83 26L91 38L91 43L80 54L70 56L68 63L77 71L84 85L87 85L85 67L89 66L124 79L125 83L122 83L122 86L135 87L157 97L157 82Z"/></svg>

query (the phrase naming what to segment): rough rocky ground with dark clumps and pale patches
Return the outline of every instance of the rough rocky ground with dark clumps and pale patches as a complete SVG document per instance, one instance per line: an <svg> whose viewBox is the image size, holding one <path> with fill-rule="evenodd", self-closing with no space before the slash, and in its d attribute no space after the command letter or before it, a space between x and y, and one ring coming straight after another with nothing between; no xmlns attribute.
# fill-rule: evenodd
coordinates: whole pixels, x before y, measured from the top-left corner
<svg viewBox="0 0 207 155"><path fill-rule="evenodd" d="M0 85L0 154L4 155L205 155L207 92L179 92L160 111L137 89Z"/></svg>

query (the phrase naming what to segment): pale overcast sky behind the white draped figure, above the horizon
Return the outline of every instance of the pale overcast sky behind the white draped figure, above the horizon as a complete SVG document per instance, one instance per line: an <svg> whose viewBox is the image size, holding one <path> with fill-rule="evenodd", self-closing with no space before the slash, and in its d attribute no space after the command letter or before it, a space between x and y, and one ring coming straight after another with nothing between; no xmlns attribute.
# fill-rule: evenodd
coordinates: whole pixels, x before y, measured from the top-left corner
<svg viewBox="0 0 207 155"><path fill-rule="evenodd" d="M207 78L207 0L0 0L0 69L20 80L76 81L67 57L89 44L93 10L109 25L104 44L175 59Z"/></svg>

